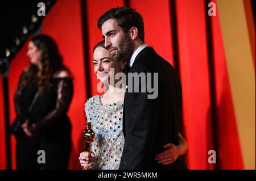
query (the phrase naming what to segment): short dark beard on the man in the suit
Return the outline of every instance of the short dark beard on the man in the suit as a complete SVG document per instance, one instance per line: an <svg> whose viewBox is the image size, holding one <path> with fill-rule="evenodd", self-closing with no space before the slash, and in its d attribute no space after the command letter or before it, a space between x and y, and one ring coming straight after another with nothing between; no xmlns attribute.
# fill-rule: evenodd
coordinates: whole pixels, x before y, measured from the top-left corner
<svg viewBox="0 0 256 181"><path fill-rule="evenodd" d="M133 44L129 39L129 36L125 34L123 39L120 41L117 47L117 54L113 55L114 61L125 61L129 62L133 54Z"/></svg>

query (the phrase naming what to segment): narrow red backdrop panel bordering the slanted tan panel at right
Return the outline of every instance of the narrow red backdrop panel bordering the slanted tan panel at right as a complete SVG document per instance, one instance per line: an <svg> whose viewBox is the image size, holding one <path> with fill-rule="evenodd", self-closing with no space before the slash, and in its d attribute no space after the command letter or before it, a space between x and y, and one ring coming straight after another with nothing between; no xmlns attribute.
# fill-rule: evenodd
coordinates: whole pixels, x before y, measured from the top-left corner
<svg viewBox="0 0 256 181"><path fill-rule="evenodd" d="M213 1L216 2L216 1ZM236 127L233 100L226 67L224 45L221 38L221 27L218 16L210 19L213 60L213 77L215 92L215 127L216 150L218 153L218 169L243 169L241 145ZM232 148L227 154L226 150Z"/></svg>

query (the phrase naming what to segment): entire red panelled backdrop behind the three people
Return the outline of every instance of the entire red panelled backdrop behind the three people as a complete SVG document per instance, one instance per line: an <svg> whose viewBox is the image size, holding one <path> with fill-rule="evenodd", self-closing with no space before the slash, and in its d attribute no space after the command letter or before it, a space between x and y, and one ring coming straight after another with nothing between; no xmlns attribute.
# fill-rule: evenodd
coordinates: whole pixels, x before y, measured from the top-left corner
<svg viewBox="0 0 256 181"><path fill-rule="evenodd" d="M188 142L185 161L189 169L244 169L233 108L220 20L207 15L204 0L62 0L43 21L42 33L59 45L64 64L74 77L74 96L68 115L72 121L69 169L79 169L84 144L84 103L97 92L93 72L93 47L102 40L97 20L112 7L128 5L144 19L146 44L174 65L183 87L183 128ZM255 30L254 30L255 31ZM254 32L255 33L255 32ZM254 36L255 37L255 36ZM10 124L15 118L14 91L22 70L29 65L27 44L11 64L7 77ZM255 44L255 40L254 40ZM7 169L3 78L0 78L0 169ZM15 169L15 138L11 136L11 169ZM217 163L208 163L215 150Z"/></svg>

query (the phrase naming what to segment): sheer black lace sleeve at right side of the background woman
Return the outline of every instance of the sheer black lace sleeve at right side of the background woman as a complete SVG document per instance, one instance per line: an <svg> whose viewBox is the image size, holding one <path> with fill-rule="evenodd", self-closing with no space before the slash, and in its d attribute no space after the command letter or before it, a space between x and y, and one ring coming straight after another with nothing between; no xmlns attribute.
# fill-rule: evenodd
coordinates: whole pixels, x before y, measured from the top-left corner
<svg viewBox="0 0 256 181"><path fill-rule="evenodd" d="M57 100L55 109L46 115L41 125L51 124L53 120L61 117L68 111L73 96L73 82L71 78L61 79L57 84Z"/></svg>

